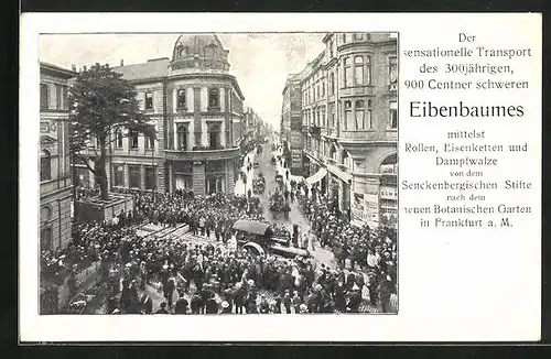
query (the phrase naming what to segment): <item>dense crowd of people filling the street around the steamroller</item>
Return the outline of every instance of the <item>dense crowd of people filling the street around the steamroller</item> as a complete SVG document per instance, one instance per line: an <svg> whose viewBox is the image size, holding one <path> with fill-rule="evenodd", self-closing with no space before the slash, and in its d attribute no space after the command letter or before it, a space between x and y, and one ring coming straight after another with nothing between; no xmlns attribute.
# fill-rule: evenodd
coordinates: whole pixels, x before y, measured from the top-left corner
<svg viewBox="0 0 551 359"><path fill-rule="evenodd" d="M359 313L367 305L390 312L390 296L397 291L396 229L353 226L348 214L304 182L293 181L284 191L278 191L278 203L298 200L311 222L309 235L299 236L309 237L298 239L300 247L313 248L317 240L334 253L336 268L239 249L235 221L266 222L260 200L250 191L245 196L132 191L134 208L114 220L75 220L71 246L63 252L42 252L42 276L57 285L68 278L74 290L75 274L100 261L108 314ZM139 233L137 225L144 221L185 224L204 241L193 244L170 235ZM277 237L291 237L284 226L271 226ZM151 289L164 297L159 309Z"/></svg>

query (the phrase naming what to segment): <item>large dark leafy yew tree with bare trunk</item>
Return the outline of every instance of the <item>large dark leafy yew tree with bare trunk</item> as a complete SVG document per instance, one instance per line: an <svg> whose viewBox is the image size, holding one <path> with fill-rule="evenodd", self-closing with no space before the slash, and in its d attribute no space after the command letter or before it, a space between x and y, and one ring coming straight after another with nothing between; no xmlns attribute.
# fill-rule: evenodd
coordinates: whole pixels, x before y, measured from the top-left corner
<svg viewBox="0 0 551 359"><path fill-rule="evenodd" d="M139 110L136 96L132 84L109 65L96 64L78 73L71 86L69 146L72 153L99 177L104 199L108 198L106 149L116 140L114 134L121 131L125 137L141 133L153 140L156 138L154 126ZM96 154L94 167L85 160L86 152L90 151Z"/></svg>

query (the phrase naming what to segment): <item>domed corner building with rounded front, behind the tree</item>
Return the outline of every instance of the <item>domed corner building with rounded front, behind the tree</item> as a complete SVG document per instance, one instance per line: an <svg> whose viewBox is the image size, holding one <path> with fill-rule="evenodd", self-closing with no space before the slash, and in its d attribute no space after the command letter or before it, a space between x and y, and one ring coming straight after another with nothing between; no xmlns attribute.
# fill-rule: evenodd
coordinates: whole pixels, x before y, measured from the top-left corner
<svg viewBox="0 0 551 359"><path fill-rule="evenodd" d="M228 54L216 35L181 35L172 59L114 68L136 86L158 139L115 141L111 186L234 193L245 98L228 73Z"/></svg>

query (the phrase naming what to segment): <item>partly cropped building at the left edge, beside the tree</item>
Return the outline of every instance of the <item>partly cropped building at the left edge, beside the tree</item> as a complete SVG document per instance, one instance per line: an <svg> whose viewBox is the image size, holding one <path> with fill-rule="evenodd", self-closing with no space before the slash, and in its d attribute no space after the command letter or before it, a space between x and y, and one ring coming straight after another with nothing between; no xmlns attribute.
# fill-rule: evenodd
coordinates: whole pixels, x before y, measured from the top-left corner
<svg viewBox="0 0 551 359"><path fill-rule="evenodd" d="M40 64L40 247L71 242L73 176L68 141L68 80L76 73Z"/></svg>

